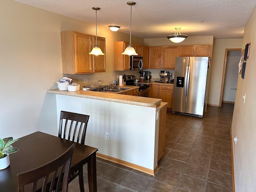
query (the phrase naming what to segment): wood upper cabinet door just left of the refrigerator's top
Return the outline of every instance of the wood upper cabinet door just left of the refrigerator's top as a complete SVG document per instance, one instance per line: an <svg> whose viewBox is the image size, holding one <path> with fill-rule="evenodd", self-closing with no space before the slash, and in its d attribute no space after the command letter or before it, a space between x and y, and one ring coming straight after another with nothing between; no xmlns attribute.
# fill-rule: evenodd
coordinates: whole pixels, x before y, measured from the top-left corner
<svg viewBox="0 0 256 192"><path fill-rule="evenodd" d="M179 46L163 47L162 69L174 69L175 59L178 57Z"/></svg>

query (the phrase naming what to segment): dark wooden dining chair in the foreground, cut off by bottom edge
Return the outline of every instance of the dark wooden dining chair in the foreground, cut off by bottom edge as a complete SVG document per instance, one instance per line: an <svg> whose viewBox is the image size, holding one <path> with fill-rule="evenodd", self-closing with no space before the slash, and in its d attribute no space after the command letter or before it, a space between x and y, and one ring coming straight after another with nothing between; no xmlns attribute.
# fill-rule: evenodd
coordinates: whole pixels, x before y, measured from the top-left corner
<svg viewBox="0 0 256 192"><path fill-rule="evenodd" d="M56 159L33 170L18 174L18 192L30 187L31 192L68 191L68 177L75 144ZM27 191L27 190L26 190Z"/></svg>

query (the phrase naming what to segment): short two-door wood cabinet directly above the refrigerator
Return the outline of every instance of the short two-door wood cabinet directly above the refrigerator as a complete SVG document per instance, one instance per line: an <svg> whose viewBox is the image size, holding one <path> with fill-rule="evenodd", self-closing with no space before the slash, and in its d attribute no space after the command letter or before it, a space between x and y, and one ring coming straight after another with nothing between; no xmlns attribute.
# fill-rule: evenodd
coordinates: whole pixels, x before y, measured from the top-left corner
<svg viewBox="0 0 256 192"><path fill-rule="evenodd" d="M179 56L210 57L210 45L180 46Z"/></svg>

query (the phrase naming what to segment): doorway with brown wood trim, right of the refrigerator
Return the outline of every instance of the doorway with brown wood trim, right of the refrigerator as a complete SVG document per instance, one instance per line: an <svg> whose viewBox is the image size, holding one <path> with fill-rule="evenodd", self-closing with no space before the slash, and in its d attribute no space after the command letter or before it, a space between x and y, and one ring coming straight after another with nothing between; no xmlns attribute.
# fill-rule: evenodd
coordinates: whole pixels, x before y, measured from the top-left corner
<svg viewBox="0 0 256 192"><path fill-rule="evenodd" d="M225 50L219 106L221 106L222 102L235 102L240 58L241 49Z"/></svg>

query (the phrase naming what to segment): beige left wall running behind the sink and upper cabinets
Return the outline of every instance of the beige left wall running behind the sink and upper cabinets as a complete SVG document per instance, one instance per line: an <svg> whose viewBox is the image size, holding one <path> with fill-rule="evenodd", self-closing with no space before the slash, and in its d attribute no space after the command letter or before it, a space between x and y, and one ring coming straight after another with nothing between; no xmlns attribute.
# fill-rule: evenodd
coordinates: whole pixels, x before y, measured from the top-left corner
<svg viewBox="0 0 256 192"><path fill-rule="evenodd" d="M98 17L98 20L100 18ZM98 36L106 38L106 72L86 75L62 74L60 31L74 30L95 35L95 24L82 22L27 6L12 0L0 1L0 137L18 138L43 131L57 134L55 95L59 78L71 77L84 86L88 82L114 81L114 41L130 36L98 26ZM132 36L132 42L144 39ZM130 74L135 72L129 72Z"/></svg>

